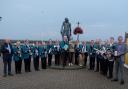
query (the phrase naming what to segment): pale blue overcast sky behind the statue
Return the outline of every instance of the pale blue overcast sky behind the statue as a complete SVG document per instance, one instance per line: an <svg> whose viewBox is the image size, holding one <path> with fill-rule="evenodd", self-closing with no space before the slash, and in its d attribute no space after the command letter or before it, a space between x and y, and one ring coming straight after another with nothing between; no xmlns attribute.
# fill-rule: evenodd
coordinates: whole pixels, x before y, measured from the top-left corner
<svg viewBox="0 0 128 89"><path fill-rule="evenodd" d="M128 32L128 0L0 0L0 16L0 39L61 39L65 17L72 31L80 22L81 40Z"/></svg>

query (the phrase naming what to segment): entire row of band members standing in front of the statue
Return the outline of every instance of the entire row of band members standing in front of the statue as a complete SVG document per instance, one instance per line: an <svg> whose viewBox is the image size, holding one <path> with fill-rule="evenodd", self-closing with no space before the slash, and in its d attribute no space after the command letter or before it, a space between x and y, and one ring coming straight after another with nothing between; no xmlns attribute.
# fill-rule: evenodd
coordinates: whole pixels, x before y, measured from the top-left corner
<svg viewBox="0 0 128 89"><path fill-rule="evenodd" d="M36 42L29 44L28 40L24 43L17 41L11 44L9 39L1 46L1 53L4 63L4 77L7 75L13 76L11 72L12 59L15 62L15 73L21 74L22 62L24 61L25 72L31 72L31 61L33 59L35 71L39 71L41 60L41 68L46 69L47 66L53 65L52 57L55 55L56 66L87 66L89 60L89 70L100 72L112 81L118 81L124 84L123 64L124 54L127 46L123 42L123 37L118 37L118 42L115 43L111 37L108 41L91 40L86 41L69 41L67 36L64 36L63 41L52 42ZM115 67L114 67L115 65ZM8 71L7 71L8 69ZM115 72L113 72L113 69ZM120 73L120 76L118 77Z"/></svg>

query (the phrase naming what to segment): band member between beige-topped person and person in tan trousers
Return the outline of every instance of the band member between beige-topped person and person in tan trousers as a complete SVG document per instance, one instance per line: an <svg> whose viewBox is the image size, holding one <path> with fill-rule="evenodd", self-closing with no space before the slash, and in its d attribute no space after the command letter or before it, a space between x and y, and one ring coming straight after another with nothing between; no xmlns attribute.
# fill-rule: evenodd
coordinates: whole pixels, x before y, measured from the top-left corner
<svg viewBox="0 0 128 89"><path fill-rule="evenodd" d="M79 54L80 54L80 46L79 41L77 40L75 43L75 65L79 65Z"/></svg>

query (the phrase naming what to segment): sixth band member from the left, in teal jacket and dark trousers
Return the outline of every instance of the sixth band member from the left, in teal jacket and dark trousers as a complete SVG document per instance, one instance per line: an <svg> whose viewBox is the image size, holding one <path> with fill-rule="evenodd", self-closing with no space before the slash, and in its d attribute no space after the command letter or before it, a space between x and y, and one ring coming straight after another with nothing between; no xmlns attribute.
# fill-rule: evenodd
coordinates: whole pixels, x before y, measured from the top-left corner
<svg viewBox="0 0 128 89"><path fill-rule="evenodd" d="M48 51L48 66L50 67L52 65L52 55L53 55L53 44L52 40L50 39L47 45L47 51Z"/></svg>

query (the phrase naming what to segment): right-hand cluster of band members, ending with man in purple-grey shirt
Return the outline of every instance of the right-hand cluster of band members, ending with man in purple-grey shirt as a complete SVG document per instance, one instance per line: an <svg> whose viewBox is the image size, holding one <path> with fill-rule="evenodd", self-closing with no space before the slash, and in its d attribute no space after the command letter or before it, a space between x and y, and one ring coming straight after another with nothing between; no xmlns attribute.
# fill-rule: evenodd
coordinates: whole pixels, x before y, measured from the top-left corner
<svg viewBox="0 0 128 89"><path fill-rule="evenodd" d="M89 70L100 72L112 81L124 84L124 55L127 53L127 45L123 42L123 37L118 37L118 42L114 37L107 41L91 40L88 50ZM113 72L114 71L114 72Z"/></svg>

